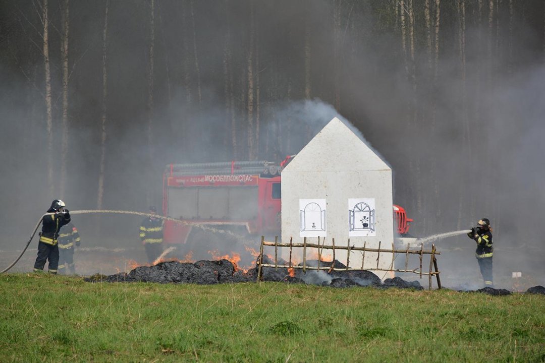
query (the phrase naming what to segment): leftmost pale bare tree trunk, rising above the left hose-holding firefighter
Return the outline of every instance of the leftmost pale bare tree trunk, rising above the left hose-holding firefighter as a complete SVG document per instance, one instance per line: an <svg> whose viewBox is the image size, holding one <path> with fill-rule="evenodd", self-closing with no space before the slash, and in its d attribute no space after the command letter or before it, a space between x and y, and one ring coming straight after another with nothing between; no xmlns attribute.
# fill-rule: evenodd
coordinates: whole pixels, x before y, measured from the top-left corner
<svg viewBox="0 0 545 363"><path fill-rule="evenodd" d="M47 184L49 186L49 194L53 195L53 107L51 100L51 69L49 64L49 15L47 14L47 0L43 0L43 53L44 53L44 69L45 69L45 107L47 114Z"/></svg>

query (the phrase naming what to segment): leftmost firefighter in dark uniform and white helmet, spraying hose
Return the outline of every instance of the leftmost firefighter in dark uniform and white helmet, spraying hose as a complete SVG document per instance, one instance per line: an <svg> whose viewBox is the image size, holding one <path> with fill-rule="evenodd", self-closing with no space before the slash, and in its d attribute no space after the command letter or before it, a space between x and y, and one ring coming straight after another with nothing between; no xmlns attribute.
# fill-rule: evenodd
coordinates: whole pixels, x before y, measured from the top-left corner
<svg viewBox="0 0 545 363"><path fill-rule="evenodd" d="M47 269L50 273L56 274L59 264L58 237L59 230L70 222L70 213L65 208L64 202L55 199L47 210L48 216L42 219L40 242L38 243L38 257L34 263L34 272L44 270L45 262L49 261Z"/></svg>

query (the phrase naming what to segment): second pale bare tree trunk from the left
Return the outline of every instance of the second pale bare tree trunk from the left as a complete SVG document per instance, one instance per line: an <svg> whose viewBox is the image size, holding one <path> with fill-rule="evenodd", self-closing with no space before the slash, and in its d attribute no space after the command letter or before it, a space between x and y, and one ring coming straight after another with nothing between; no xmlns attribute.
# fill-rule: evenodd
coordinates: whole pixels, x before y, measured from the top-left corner
<svg viewBox="0 0 545 363"><path fill-rule="evenodd" d="M62 106L62 147L60 150L60 195L65 195L66 160L68 159L68 30L69 30L69 0L64 0L62 13L63 39L60 54L63 60L63 106Z"/></svg>

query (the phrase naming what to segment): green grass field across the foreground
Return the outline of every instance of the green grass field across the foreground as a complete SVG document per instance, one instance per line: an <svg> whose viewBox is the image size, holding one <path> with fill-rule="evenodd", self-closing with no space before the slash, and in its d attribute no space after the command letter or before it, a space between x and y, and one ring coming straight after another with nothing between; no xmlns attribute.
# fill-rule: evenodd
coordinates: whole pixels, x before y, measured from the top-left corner
<svg viewBox="0 0 545 363"><path fill-rule="evenodd" d="M544 362L545 296L0 275L0 362Z"/></svg>

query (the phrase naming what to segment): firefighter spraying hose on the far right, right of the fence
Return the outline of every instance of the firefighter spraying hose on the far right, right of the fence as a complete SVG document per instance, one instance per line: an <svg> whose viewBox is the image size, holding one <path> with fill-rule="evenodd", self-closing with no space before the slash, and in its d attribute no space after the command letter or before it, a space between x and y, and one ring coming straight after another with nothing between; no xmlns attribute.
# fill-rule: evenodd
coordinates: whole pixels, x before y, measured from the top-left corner
<svg viewBox="0 0 545 363"><path fill-rule="evenodd" d="M479 262L481 275L483 280L485 280L485 287L494 287L494 280L492 279L492 253L494 248L492 247L490 220L483 218L477 224L477 227L471 228L468 237L477 242L475 257L477 257L477 262Z"/></svg>

